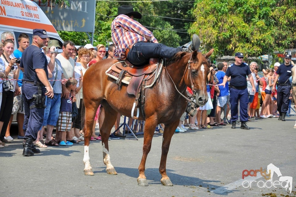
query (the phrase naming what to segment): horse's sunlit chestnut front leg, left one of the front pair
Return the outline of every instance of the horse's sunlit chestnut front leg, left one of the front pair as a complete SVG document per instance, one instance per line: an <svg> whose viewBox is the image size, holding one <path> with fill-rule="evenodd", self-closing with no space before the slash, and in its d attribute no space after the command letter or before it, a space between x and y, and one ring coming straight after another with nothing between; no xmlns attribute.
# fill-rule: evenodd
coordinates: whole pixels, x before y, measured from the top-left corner
<svg viewBox="0 0 296 197"><path fill-rule="evenodd" d="M145 176L145 164L147 155L151 149L152 137L154 135L155 127L157 124L157 119L154 117L149 117L145 120L145 128L144 128L144 142L143 142L143 155L141 159L141 163L138 167L139 177L137 178L138 185L140 186L148 186L148 182Z"/></svg>

